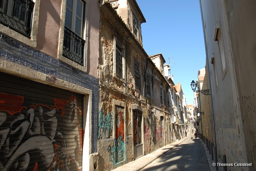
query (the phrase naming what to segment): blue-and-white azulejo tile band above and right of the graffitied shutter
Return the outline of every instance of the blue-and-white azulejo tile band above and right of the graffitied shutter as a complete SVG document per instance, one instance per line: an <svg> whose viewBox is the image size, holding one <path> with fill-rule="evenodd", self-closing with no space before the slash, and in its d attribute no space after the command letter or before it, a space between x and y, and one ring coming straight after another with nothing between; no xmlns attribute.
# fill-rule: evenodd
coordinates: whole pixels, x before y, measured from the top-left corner
<svg viewBox="0 0 256 171"><path fill-rule="evenodd" d="M10 52L10 53L9 53ZM0 59L92 90L92 153L98 151L98 78L0 33Z"/></svg>

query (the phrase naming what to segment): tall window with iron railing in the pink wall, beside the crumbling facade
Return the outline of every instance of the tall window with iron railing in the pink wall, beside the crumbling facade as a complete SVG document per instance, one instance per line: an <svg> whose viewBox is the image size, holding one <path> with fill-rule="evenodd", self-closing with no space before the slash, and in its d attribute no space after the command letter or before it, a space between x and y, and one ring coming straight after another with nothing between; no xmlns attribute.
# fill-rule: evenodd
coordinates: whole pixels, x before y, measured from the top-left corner
<svg viewBox="0 0 256 171"><path fill-rule="evenodd" d="M63 56L74 62L84 65L84 10L85 3L82 0L67 0Z"/></svg>

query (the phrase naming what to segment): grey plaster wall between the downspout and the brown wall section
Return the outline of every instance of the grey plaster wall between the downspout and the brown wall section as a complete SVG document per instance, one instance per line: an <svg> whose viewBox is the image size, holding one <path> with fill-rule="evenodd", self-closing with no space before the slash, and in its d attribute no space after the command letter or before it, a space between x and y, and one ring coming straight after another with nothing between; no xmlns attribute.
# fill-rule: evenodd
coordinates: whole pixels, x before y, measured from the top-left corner
<svg viewBox="0 0 256 171"><path fill-rule="evenodd" d="M228 26L228 21L231 22L231 18L226 18L225 12L225 4L224 1L201 1L202 2L202 9L203 9L203 18L204 18L204 27L207 33L207 53L208 53L208 60L210 61L210 57L214 57L214 66L210 64L210 76L211 76L211 88L212 88L212 98L213 98L213 108L214 108L214 121L215 121L215 131L216 131L216 145L217 145L217 153L219 156L223 154L226 155L227 163L247 163L247 156L245 150L245 143L244 143L244 132L241 125L241 112L240 107L238 105L238 98L241 99L237 95L237 87L236 84L243 84L244 80L239 80L238 82L235 80L235 73L234 73L234 64L239 66L239 62L233 63L232 59L232 50L230 47L230 37L228 28L235 28ZM237 2L234 2L235 4ZM233 3L232 3L233 4ZM233 5L231 5L232 7ZM242 7L243 6L243 7ZM244 8L244 5L240 5L241 8ZM239 8L240 8L239 7ZM246 9L246 8L245 8ZM233 14L236 15L236 12L239 10L235 10ZM245 10L248 11L248 10ZM239 12L238 12L239 13ZM239 17L234 17L234 22L237 22L236 26L241 26L241 32L244 33L242 30L242 25L237 20ZM244 16L242 16L244 18ZM236 21L237 20L237 21ZM242 19L240 20L242 21ZM223 38L223 47L224 47L224 56L225 56L225 63L226 69L222 69L221 63L221 56L220 56L220 48L218 41L213 40L214 33L214 26L216 23L220 23L220 31L221 36ZM239 22L239 24L238 24ZM250 23L251 24L251 23ZM238 40L237 34L238 32L234 33L233 39L231 42ZM241 34L242 39L244 39L244 34ZM244 39L245 40L245 39ZM246 40L247 41L247 40ZM239 41L240 42L240 41ZM241 42L240 42L241 43ZM240 47L239 47L240 48ZM247 47L246 47L247 49ZM241 53L241 56L245 56L244 53ZM240 58L240 57L239 57ZM252 59L252 58L251 58ZM244 60L243 60L244 61ZM252 61L250 63L253 63ZM246 68L248 68L246 66ZM215 72L217 73L218 85L216 84L215 80ZM242 69L244 70L244 68ZM241 71L241 70L239 70ZM250 71L251 72L251 71ZM248 74L246 74L248 75ZM245 76L245 72L242 73L242 77ZM251 79L250 79L251 80ZM248 80L247 80L248 81ZM248 87L248 85L243 86L243 89ZM249 90L246 88L246 90ZM202 96L201 96L202 97ZM240 101L241 102L241 101ZM250 103L249 103L250 104ZM243 120L243 119L242 119ZM251 121L253 119L251 118ZM248 143L251 143L251 140ZM240 170L248 170L248 167L232 167L231 170L240 171Z"/></svg>

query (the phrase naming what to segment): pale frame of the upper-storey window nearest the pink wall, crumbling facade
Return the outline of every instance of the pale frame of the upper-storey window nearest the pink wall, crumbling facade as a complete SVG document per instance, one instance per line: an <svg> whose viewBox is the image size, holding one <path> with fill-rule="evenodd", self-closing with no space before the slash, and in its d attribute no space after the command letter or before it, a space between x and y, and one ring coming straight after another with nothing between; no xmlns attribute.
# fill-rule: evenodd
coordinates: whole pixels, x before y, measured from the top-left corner
<svg viewBox="0 0 256 171"><path fill-rule="evenodd" d="M122 49L122 75L117 75L116 74L116 46ZM122 82L125 82L125 47L124 45L116 38L114 37L114 53L113 53L113 76L115 78L118 78Z"/></svg>

